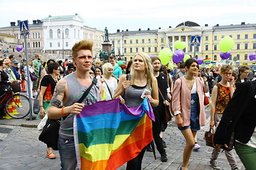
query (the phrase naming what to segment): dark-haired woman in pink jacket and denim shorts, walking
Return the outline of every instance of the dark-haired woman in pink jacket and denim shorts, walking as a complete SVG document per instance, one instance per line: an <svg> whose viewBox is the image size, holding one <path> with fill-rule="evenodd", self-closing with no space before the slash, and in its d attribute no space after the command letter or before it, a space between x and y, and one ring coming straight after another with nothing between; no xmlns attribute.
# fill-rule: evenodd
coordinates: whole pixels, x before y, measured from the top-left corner
<svg viewBox="0 0 256 170"><path fill-rule="evenodd" d="M186 76L177 79L174 84L172 110L175 115L175 123L186 139L186 147L183 151L182 170L188 169L188 160L191 157L195 145L196 132L201 125L206 125L206 113L203 104L203 89L208 92L207 79L203 82L195 77L198 72L198 62L188 59L185 62Z"/></svg>

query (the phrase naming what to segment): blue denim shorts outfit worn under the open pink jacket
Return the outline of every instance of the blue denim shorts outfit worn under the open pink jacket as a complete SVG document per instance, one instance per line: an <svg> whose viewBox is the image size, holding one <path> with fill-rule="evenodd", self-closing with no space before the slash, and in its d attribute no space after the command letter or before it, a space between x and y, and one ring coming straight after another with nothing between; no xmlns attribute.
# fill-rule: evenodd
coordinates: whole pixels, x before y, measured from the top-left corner
<svg viewBox="0 0 256 170"><path fill-rule="evenodd" d="M188 126L178 128L179 130L186 130L191 128L193 131L200 130L199 125L199 98L198 94L191 94L191 123Z"/></svg>

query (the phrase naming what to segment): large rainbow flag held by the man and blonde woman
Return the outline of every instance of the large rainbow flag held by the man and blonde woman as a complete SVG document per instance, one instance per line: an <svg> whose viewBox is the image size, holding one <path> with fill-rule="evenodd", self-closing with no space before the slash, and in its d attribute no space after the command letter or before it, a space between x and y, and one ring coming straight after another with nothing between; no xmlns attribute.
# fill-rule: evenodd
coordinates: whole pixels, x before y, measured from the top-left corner
<svg viewBox="0 0 256 170"><path fill-rule="evenodd" d="M153 140L149 118L154 120L154 113L147 98L134 108L119 99L85 106L74 119L80 169L117 169L137 157Z"/></svg>

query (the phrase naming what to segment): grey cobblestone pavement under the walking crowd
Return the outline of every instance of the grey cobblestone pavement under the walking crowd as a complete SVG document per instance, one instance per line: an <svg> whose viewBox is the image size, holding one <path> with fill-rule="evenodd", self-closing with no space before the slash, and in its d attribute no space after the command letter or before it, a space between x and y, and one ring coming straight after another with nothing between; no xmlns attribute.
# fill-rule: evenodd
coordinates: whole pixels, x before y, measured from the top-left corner
<svg viewBox="0 0 256 170"><path fill-rule="evenodd" d="M206 113L208 117L207 125L198 131L198 144L201 145L201 149L198 149L197 152L192 152L188 164L190 170L212 169L209 160L213 149L206 147L206 142L203 140L204 132L208 130L210 123L209 108L206 109ZM58 151L54 152L57 159L48 159L46 158L46 145L38 141L40 132L36 127L40 121L38 118L36 120L0 120L0 169L60 169ZM4 130L5 132L1 135ZM180 168L186 141L174 123L169 123L166 132L164 132L164 141L167 145L168 161L161 162L160 154L157 151L156 160L154 160L152 152L146 152L142 162L142 169L176 170ZM245 169L238 156L237 160L238 168ZM220 153L217 162L221 169L230 169L224 153ZM119 170L124 169L126 169L126 164L119 167Z"/></svg>

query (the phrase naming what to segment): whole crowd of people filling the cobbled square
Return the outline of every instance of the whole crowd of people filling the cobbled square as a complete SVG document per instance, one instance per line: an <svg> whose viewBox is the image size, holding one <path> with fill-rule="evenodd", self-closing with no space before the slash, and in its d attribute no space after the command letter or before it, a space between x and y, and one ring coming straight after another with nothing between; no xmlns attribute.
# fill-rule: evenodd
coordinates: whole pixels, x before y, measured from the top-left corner
<svg viewBox="0 0 256 170"><path fill-rule="evenodd" d="M120 98L120 102L128 107L137 107L144 97L148 97L156 119L152 122L152 131L156 149L161 154L161 162L168 160L165 150L168 146L163 140L163 135L167 128L164 112L166 106L169 106L178 130L186 140L181 165L181 169L186 170L193 149L201 148L197 143L196 133L201 126L206 125L205 96L211 98L210 128L218 128L225 108L229 108L228 104L232 101L233 95L235 96L235 89L241 89L241 84L248 84L253 79L252 70L246 66L238 67L237 71L229 64L223 64L221 67L201 67L197 60L188 59L170 68L168 65L163 66L159 57L150 58L144 52L137 53L133 60L122 66L117 64L115 57L109 57L109 61L105 63L100 60L93 61L90 40L77 42L73 46L72 55L73 62L68 60L42 62L41 57L35 55L35 59L28 62L29 72L37 77L35 81L28 79L26 60L18 62L13 55L0 60L0 86L3 87L0 88L0 100L5 93L4 87L10 82L21 82L21 89L25 90L24 86L27 85L24 82L29 81L33 86L31 89L27 88L27 96L34 98L38 95L40 103L38 118L43 118L47 114L50 119L61 119L58 148L62 169L75 169L77 166L73 119L85 105ZM82 103L77 103L94 78L97 79L97 84L90 89L90 95L86 96ZM253 93L255 94L255 89ZM2 107L0 108L3 110ZM241 111L241 114L243 112ZM6 118L3 111L1 118ZM255 119L252 120L251 129L255 129ZM251 129L250 132L253 131ZM250 140L250 145L247 140L238 140L235 146L239 145L240 152L244 145L247 146L246 149L252 148L255 155L255 130L247 138ZM217 143L224 145L225 141L218 140ZM150 145L127 162L127 169L142 169L142 160L146 151L151 151ZM216 147L210 157L210 166L213 169L220 169L216 162L218 153L219 149ZM225 151L225 154L231 169L238 169L235 153ZM47 146L46 155L49 159L56 157L51 146ZM245 158L241 160L242 163L245 162ZM253 169L252 167L256 166L252 162L244 164L246 169Z"/></svg>

